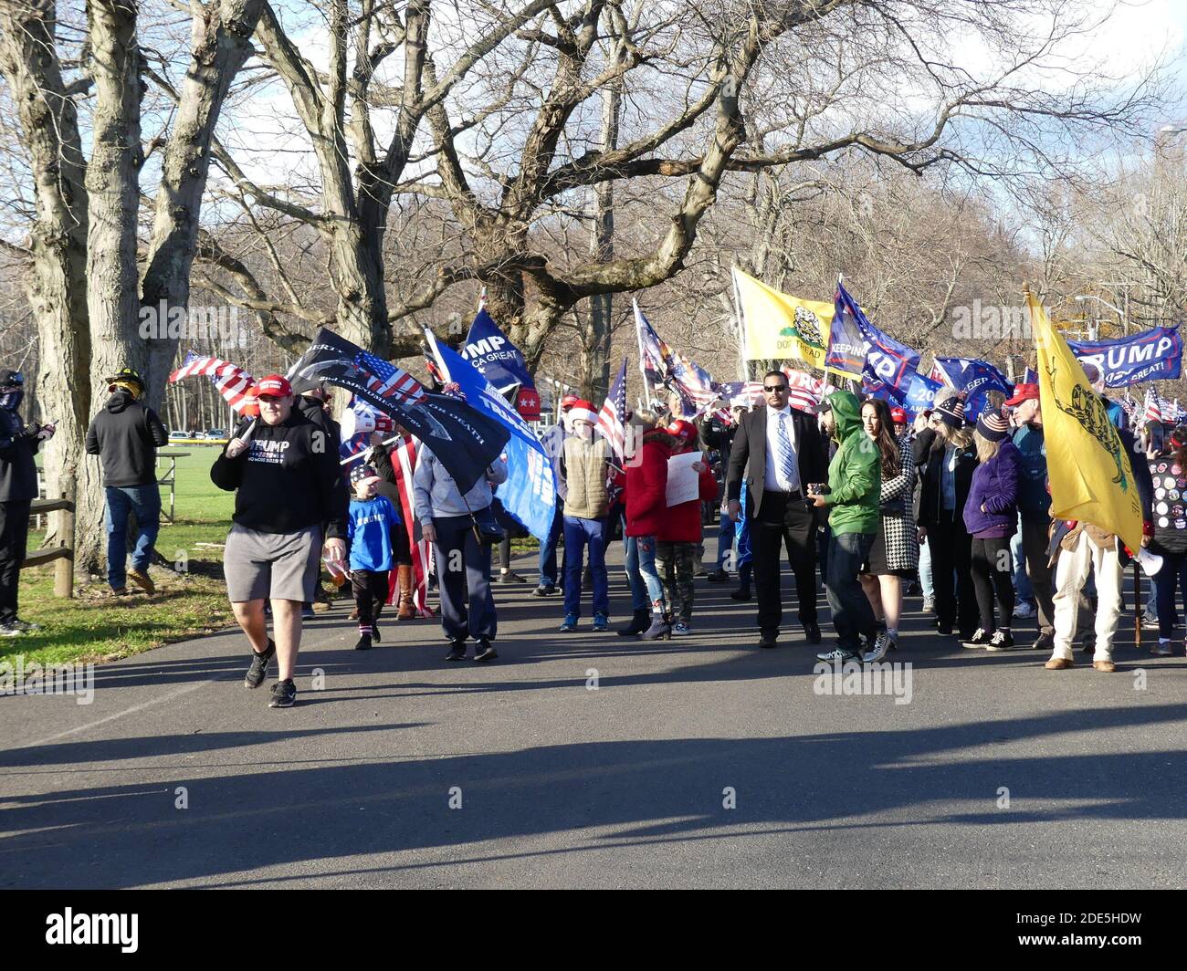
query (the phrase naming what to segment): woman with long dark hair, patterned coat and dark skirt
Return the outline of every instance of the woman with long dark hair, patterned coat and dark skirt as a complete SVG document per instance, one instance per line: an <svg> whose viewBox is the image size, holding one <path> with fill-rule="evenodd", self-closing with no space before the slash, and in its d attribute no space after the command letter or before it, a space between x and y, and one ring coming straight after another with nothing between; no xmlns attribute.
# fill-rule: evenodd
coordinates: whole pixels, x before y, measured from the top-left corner
<svg viewBox="0 0 1187 971"><path fill-rule="evenodd" d="M909 434L895 438L890 408L870 398L862 404L862 426L878 450L882 487L878 534L870 558L862 567L865 596L878 620L878 636L864 660L881 661L899 646L899 618L902 616L902 578L914 576L919 565L919 538L912 522L915 491L915 456Z"/></svg>

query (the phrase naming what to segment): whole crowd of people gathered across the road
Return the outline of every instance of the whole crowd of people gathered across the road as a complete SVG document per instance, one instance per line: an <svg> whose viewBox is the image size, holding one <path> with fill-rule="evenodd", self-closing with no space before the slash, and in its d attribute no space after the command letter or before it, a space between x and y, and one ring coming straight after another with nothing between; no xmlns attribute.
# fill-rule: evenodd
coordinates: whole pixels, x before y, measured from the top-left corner
<svg viewBox="0 0 1187 971"><path fill-rule="evenodd" d="M1100 374L1085 372L1104 398ZM18 571L25 557L28 503L36 496L33 456L52 425L25 425L18 413L21 376L0 372L0 635L32 626L18 616ZM165 430L144 402L145 382L123 370L87 433L106 489L112 596L133 582L153 592L150 564L159 527L155 449ZM589 589L590 627L610 630L608 545L621 535L631 616L620 636L683 637L696 622L694 577L736 579L731 597L756 601L757 647L779 645L783 627L782 559L795 588L805 643L823 646L820 588L836 643L823 661L875 662L900 647L903 598L923 598L939 635L990 652L1027 646L1015 621L1035 622L1034 649L1048 669L1075 664L1081 621L1092 621L1083 649L1100 672L1116 669L1113 639L1122 613L1123 571L1136 551L1092 522L1052 521L1037 385L1022 383L978 414L945 389L935 406L908 421L901 408L838 389L812 411L789 404L787 375L763 377L763 404L710 410L700 420L656 408L627 415L628 455L617 459L598 432L598 414L573 395L541 433L556 478L552 527L539 550L539 597L561 592L558 634L582 627ZM245 421L215 459L210 477L235 493L224 550L227 592L250 645L245 684L264 684L275 661L269 704L296 700L293 672L301 621L323 598L323 564L350 580L356 648L382 642L385 605L399 621L412 608L413 535L432 547L447 661L493 661L497 579L520 582L495 491L508 477L503 458L466 490L420 445L411 481L414 523L395 491L392 449L377 433L348 474L325 387L293 394L281 375L256 387L259 417ZM1104 399L1129 449L1142 496L1143 546L1161 557L1142 624L1157 630L1154 652L1173 652L1176 584L1187 598L1187 426L1130 421ZM1131 427L1131 425L1135 425ZM404 431L398 429L398 431ZM671 500L679 469L685 491ZM702 566L706 509L718 509L712 572ZM135 520L131 567L129 518ZM711 518L710 518L711 521ZM563 545L561 545L563 539ZM559 559L559 566L558 566ZM271 616L272 634L268 634ZM710 624L711 626L711 624Z"/></svg>

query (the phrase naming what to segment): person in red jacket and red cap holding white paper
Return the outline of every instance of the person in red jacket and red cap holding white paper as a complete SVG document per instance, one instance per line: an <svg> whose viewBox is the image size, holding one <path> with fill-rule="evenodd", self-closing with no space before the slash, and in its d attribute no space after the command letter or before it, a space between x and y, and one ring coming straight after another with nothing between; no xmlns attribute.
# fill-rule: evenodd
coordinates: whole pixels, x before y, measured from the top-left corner
<svg viewBox="0 0 1187 971"><path fill-rule="evenodd" d="M672 455L691 452L697 448L697 426L679 419L668 425ZM664 579L668 601L675 615L672 634L685 637L692 633L692 577L698 561L697 546L700 542L700 503L717 499L717 480L704 456L698 452L692 464L697 474L697 496L667 506L660 522L655 544L655 567ZM665 504L666 504L665 496Z"/></svg>

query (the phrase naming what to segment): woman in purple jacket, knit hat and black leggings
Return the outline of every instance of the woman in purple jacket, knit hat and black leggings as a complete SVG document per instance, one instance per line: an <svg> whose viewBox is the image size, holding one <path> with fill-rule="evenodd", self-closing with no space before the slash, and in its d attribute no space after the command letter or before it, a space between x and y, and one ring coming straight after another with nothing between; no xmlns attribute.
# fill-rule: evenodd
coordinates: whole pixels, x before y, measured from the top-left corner
<svg viewBox="0 0 1187 971"><path fill-rule="evenodd" d="M989 408L977 419L973 442L980 464L972 474L965 503L965 528L972 537L972 584L977 592L980 627L965 647L1008 650L1014 647L1010 622L1014 618L1014 567L1010 537L1017 525L1018 480L1022 456L1009 438L1009 423L1001 411ZM997 597L999 624L994 623Z"/></svg>

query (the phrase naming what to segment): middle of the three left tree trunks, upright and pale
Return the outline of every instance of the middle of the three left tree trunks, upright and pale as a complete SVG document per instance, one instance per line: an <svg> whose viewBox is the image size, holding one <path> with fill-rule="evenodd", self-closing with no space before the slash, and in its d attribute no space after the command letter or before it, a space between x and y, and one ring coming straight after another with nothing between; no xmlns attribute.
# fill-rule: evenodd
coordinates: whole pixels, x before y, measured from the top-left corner
<svg viewBox="0 0 1187 971"><path fill-rule="evenodd" d="M95 114L87 166L87 307L91 341L91 400L107 399L107 379L121 367L144 373L137 275L140 150L140 65L137 9L131 0L91 0L87 7ZM76 564L97 569L103 493L97 463L78 482Z"/></svg>

